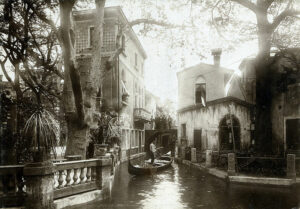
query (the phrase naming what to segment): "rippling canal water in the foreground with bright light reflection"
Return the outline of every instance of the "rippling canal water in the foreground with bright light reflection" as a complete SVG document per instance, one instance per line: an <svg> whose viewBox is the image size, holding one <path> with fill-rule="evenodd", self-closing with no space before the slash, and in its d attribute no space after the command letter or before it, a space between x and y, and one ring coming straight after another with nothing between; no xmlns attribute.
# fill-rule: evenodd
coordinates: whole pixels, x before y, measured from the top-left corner
<svg viewBox="0 0 300 209"><path fill-rule="evenodd" d="M124 163L116 171L109 199L72 209L298 209L299 206L299 188L229 185L178 164L153 177L135 177L128 174Z"/></svg>

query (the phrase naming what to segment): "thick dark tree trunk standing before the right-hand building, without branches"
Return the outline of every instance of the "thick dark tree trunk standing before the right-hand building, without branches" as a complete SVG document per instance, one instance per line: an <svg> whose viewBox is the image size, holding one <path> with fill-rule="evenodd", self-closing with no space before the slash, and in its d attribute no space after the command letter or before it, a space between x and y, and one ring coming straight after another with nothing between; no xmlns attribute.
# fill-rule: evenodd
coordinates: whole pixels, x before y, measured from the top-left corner
<svg viewBox="0 0 300 209"><path fill-rule="evenodd" d="M271 154L272 152L272 75L270 72L271 35L272 32L267 25L266 16L258 17L259 53L255 60L255 139L257 151L261 154Z"/></svg>

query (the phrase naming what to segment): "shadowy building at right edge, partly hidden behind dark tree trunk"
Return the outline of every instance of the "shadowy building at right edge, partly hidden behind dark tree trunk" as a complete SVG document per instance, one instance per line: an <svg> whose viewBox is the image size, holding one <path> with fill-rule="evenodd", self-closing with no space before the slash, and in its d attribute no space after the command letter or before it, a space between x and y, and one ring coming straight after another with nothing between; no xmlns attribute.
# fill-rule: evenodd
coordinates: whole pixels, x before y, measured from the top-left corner
<svg viewBox="0 0 300 209"><path fill-rule="evenodd" d="M272 59L272 137L267 144L274 155L300 156L300 50L277 52ZM254 59L244 59L240 70L243 72L242 83L247 99L255 103Z"/></svg>

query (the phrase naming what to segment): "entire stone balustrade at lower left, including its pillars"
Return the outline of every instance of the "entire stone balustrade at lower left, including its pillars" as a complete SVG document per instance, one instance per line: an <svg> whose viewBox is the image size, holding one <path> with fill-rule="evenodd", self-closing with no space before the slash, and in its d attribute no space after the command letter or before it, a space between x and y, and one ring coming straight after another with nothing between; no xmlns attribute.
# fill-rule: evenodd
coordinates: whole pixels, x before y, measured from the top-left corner
<svg viewBox="0 0 300 209"><path fill-rule="evenodd" d="M0 166L0 206L24 206L27 202L34 202L30 199L36 196L33 191L45 191L38 199L49 196L52 201L93 190L106 192L111 166L109 156L54 164L50 162L46 166L34 163ZM105 196L105 192L102 195ZM40 208L37 204L25 206Z"/></svg>

